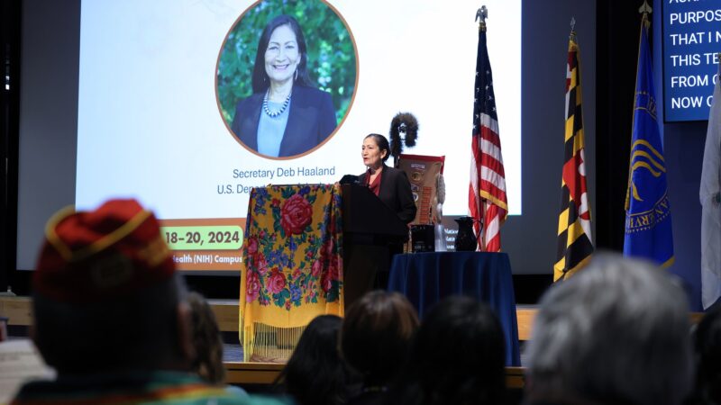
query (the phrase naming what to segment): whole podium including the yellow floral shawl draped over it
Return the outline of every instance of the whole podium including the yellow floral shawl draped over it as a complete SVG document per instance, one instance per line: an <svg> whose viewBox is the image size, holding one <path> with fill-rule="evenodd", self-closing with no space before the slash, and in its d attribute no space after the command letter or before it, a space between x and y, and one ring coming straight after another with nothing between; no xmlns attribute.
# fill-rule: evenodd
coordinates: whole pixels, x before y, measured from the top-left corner
<svg viewBox="0 0 721 405"><path fill-rule="evenodd" d="M287 361L306 325L342 316L407 238L406 224L365 186L253 188L241 266L243 360Z"/></svg>

